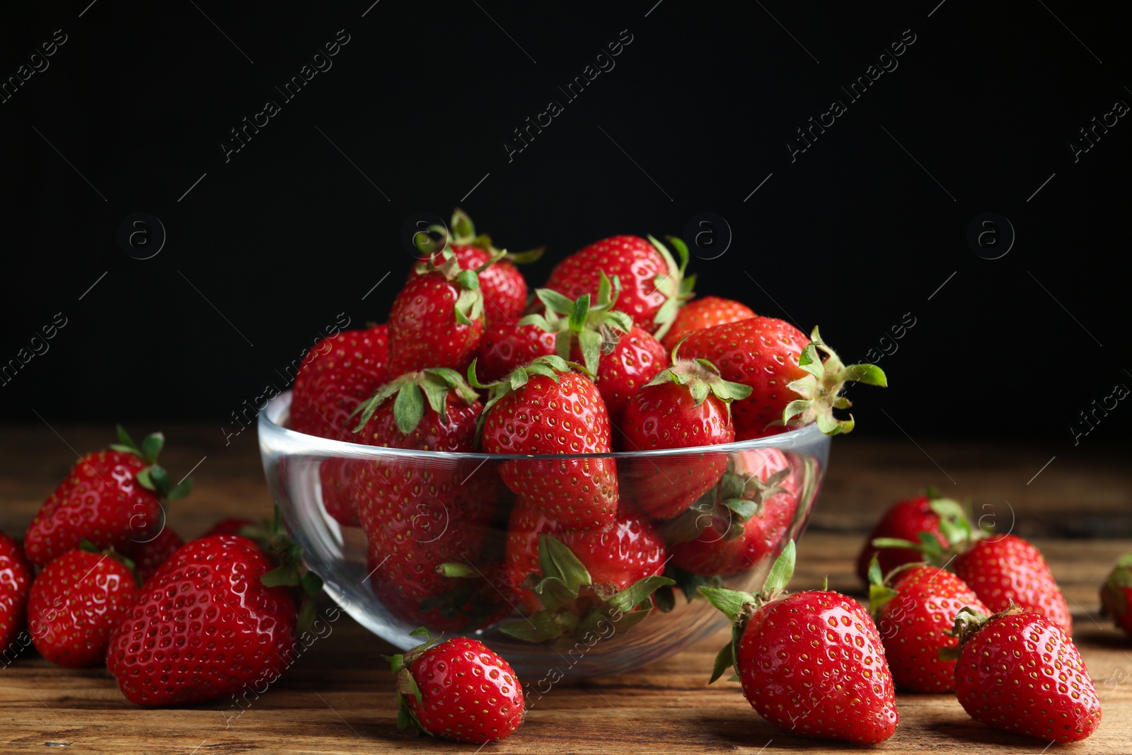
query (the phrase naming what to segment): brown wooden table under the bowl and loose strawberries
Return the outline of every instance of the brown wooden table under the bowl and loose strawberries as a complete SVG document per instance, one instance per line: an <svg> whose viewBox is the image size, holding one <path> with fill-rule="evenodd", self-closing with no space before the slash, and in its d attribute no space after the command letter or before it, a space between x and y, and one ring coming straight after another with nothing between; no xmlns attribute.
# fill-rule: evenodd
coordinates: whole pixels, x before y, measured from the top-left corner
<svg viewBox="0 0 1132 755"><path fill-rule="evenodd" d="M19 533L75 454L104 445L108 430L43 426L0 428L0 530ZM225 446L218 428L166 428L163 460L174 478L199 462L197 490L170 515L186 537L222 516L265 515L271 500L258 447L248 430ZM140 435L140 429L135 435ZM1132 471L1126 454L1065 453L970 444L838 439L809 532L798 548L794 586L860 593L852 559L881 508L927 483L974 497L1001 529L1034 538L1070 598L1075 641L1104 704L1104 722L1073 746L1092 754L1132 753L1132 641L1101 621L1097 585L1132 550ZM201 461L201 458L204 460ZM953 482L952 482L953 481ZM1081 535L1117 535L1080 539ZM1077 535L1071 538L1070 535ZM560 683L491 753L661 753L775 749L832 752L851 745L794 737L756 715L738 684L707 686L712 657L726 641L636 671ZM379 658L389 647L350 618L338 619L266 694L247 710L223 702L142 710L119 693L104 669L70 671L27 653L0 667L0 753L374 753L477 752L415 738L394 726L391 675ZM972 721L946 695L899 695L900 728L877 748L921 753L1032 753L1043 743Z"/></svg>

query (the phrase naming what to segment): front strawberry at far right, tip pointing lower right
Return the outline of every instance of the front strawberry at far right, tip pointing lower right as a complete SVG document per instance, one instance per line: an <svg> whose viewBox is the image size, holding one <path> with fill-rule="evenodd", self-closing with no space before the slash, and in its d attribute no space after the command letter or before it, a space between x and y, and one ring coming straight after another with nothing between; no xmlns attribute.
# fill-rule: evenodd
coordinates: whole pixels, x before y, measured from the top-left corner
<svg viewBox="0 0 1132 755"><path fill-rule="evenodd" d="M1048 743L1087 738L1100 724L1100 701L1069 634L1048 617L1010 608L994 616L964 609L955 696L971 718Z"/></svg>

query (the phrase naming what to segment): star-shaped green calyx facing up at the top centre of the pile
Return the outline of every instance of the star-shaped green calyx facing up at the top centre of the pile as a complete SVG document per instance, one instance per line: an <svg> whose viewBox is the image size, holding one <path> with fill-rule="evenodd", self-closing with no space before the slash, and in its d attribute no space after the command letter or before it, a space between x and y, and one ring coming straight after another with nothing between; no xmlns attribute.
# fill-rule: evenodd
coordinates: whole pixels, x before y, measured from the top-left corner
<svg viewBox="0 0 1132 755"><path fill-rule="evenodd" d="M603 271L599 271L597 300L586 293L571 301L551 289L538 289L534 295L542 302L543 311L528 315L518 324L554 333L555 351L563 359L569 359L576 343L585 369L594 374L601 354L610 353L620 335L633 329L633 318L614 309L620 293L620 278L616 275L610 278Z"/></svg>

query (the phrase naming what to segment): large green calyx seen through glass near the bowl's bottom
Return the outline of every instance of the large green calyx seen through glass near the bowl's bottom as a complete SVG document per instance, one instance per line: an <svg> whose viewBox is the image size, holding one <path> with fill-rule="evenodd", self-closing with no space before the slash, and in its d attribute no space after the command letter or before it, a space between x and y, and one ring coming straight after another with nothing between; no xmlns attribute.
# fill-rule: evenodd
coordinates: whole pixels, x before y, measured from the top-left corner
<svg viewBox="0 0 1132 755"><path fill-rule="evenodd" d="M601 625L626 632L652 611L650 597L657 589L676 584L653 575L624 590L594 584L590 572L559 540L539 535L539 569L522 586L539 597L543 609L526 619L508 621L499 630L526 642L557 640L566 646L572 638L601 635Z"/></svg>

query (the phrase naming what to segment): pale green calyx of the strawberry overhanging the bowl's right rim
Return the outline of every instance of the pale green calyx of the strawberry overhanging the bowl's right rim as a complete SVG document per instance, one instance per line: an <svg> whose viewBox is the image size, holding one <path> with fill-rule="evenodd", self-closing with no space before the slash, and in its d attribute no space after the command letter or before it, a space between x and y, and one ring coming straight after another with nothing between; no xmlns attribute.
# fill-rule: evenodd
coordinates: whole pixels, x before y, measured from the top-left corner
<svg viewBox="0 0 1132 755"><path fill-rule="evenodd" d="M852 404L840 395L846 383L865 383L886 387L889 379L876 364L842 364L841 358L822 341L817 328L809 336L811 343L801 350L798 366L808 375L787 385L801 398L787 404L782 419L775 424L801 427L817 422L825 435L850 432L854 428L852 414L841 420L834 417L834 409L849 409ZM825 357L822 358L821 353Z"/></svg>

